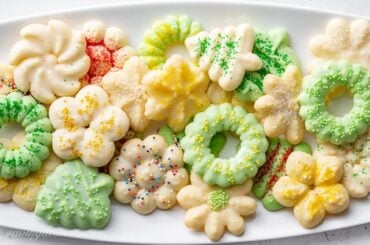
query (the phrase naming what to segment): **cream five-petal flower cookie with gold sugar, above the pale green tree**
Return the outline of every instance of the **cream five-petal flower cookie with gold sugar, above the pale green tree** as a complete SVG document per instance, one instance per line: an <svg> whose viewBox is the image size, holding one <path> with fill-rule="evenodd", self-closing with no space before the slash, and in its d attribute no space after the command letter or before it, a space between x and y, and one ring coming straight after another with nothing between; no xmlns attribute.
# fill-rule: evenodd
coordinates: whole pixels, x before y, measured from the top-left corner
<svg viewBox="0 0 370 245"><path fill-rule="evenodd" d="M129 128L126 113L111 105L107 93L98 85L82 88L76 97L57 99L50 106L49 117L55 128L55 154L67 160L80 157L93 167L111 160L114 142Z"/></svg>

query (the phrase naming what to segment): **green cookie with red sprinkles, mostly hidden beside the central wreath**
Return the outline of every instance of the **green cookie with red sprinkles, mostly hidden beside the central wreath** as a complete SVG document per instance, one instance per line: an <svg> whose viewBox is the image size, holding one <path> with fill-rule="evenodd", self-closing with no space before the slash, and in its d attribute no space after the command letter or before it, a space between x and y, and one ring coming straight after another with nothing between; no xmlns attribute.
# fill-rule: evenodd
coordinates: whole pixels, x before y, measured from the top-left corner
<svg viewBox="0 0 370 245"><path fill-rule="evenodd" d="M287 159L295 151L303 151L308 154L312 152L310 145L305 142L291 145L285 139L269 139L266 162L254 176L252 189L254 195L261 199L263 206L269 211L276 211L283 207L272 196L272 188L282 176L286 175L285 166Z"/></svg>

